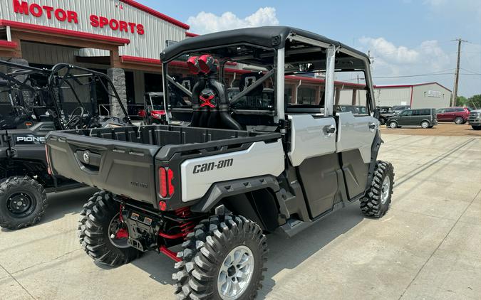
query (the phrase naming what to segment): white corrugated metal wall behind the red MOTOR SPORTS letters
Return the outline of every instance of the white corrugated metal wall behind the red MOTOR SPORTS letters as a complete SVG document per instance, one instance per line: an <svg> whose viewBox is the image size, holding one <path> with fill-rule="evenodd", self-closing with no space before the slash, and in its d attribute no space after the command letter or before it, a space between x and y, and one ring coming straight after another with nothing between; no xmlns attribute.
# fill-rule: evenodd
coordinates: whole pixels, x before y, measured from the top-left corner
<svg viewBox="0 0 481 300"><path fill-rule="evenodd" d="M19 0L21 2L21 0ZM167 22L157 16L141 11L133 6L115 0L24 0L29 5L52 6L53 9L75 11L78 14L78 23L58 21L55 16L47 18L45 11L39 17L32 14L19 14L14 11L14 1L0 1L0 19L29 23L40 26L81 31L85 33L100 34L103 36L114 36L116 38L128 38L129 45L119 48L120 55L137 56L141 58L159 58L159 53L165 48L165 40L182 41L185 38L186 30L173 23ZM115 18L125 22L142 24L145 34L140 35L136 31L131 33L112 30L110 26L103 28L94 27L90 24L90 15L104 16L108 19ZM108 55L105 50L85 49L81 50L83 56Z"/></svg>

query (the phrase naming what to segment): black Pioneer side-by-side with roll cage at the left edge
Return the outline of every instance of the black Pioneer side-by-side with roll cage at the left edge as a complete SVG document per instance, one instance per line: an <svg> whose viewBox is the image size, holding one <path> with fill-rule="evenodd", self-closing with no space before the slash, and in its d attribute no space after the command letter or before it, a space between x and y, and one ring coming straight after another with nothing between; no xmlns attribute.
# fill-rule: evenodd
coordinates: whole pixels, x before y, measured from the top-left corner
<svg viewBox="0 0 481 300"><path fill-rule="evenodd" d="M42 218L47 192L81 186L48 173L48 132L125 126L130 120L98 115L95 92L110 86L110 96L118 98L102 73L72 65L47 70L7 61L0 61L0 68L0 226L19 229Z"/></svg>

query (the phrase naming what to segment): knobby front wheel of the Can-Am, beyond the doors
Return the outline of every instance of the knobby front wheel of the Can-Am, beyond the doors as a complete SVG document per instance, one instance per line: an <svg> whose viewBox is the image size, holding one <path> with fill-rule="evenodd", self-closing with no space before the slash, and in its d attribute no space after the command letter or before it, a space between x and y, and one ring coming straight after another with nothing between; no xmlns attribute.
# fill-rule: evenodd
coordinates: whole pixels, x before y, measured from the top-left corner
<svg viewBox="0 0 481 300"><path fill-rule="evenodd" d="M381 218L391 205L393 195L394 168L386 161L376 161L373 181L366 195L361 198L361 211L364 215Z"/></svg>

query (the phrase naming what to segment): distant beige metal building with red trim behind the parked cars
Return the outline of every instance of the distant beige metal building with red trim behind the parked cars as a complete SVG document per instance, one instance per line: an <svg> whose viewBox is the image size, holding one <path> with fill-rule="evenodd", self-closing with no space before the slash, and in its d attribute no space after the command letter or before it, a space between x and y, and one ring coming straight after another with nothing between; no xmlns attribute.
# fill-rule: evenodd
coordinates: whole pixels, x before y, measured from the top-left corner
<svg viewBox="0 0 481 300"><path fill-rule="evenodd" d="M375 85L378 106L410 105L411 108L442 108L450 106L451 91L438 82L415 85Z"/></svg>

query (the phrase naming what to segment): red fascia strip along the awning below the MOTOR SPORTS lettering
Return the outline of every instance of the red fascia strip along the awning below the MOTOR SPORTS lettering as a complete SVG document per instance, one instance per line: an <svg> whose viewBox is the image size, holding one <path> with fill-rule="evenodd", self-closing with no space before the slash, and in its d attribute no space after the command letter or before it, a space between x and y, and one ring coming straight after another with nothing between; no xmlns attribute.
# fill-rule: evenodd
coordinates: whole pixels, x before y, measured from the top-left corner
<svg viewBox="0 0 481 300"><path fill-rule="evenodd" d="M105 43L118 43L118 44L129 44L130 40L128 38L115 38L113 36L103 36L100 34L86 33L82 31L73 31L68 29L53 28L48 26L40 26L29 23L21 23L9 20L0 20L0 26L10 26L13 28L20 28L31 31L40 31L45 33L55 33L62 36L68 36L71 38L83 38L86 40L103 41Z"/></svg>

